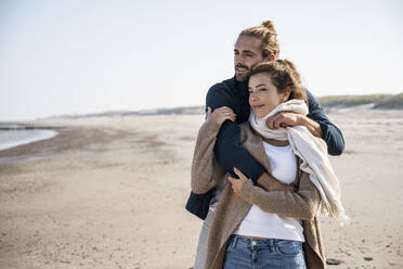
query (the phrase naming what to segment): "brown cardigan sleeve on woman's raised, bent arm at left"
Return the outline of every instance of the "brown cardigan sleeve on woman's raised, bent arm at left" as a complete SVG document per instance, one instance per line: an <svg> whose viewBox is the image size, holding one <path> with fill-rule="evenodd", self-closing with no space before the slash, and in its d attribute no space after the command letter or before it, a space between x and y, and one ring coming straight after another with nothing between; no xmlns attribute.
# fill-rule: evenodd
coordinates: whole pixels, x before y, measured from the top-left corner
<svg viewBox="0 0 403 269"><path fill-rule="evenodd" d="M192 161L192 191L203 194L218 184L218 162L213 153L220 125L205 121L197 133L196 146Z"/></svg>

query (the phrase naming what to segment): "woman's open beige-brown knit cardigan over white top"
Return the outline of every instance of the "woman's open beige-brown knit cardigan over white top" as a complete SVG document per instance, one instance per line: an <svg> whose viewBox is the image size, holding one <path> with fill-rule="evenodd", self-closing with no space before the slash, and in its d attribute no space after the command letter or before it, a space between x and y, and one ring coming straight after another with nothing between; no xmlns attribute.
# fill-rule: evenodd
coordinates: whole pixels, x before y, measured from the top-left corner
<svg viewBox="0 0 403 269"><path fill-rule="evenodd" d="M261 137L249 123L239 125L240 143L266 171L271 171ZM200 194L216 187L220 180L226 181L225 170L213 154L216 137L220 125L206 121L198 131L192 164L192 191ZM210 227L206 268L221 269L230 235L242 222L252 204L262 210L302 220L306 242L302 244L308 268L325 268L320 223L316 217L321 202L320 193L309 179L309 175L298 169L296 192L265 191L247 180L237 196L230 182L221 194Z"/></svg>

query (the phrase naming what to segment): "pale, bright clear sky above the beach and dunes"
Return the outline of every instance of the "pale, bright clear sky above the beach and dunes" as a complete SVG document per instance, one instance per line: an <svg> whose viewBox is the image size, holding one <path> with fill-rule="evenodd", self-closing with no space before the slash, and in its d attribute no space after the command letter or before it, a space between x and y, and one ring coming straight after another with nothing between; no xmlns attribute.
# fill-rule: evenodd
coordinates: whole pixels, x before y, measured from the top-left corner
<svg viewBox="0 0 403 269"><path fill-rule="evenodd" d="M273 21L314 95L403 92L403 1L0 0L0 120L204 105Z"/></svg>

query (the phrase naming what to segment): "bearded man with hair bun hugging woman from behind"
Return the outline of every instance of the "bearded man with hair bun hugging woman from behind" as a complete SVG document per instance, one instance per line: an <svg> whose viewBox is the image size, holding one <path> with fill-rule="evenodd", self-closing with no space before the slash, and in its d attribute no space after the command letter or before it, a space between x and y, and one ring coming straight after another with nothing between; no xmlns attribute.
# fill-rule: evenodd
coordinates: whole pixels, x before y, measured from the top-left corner
<svg viewBox="0 0 403 269"><path fill-rule="evenodd" d="M234 167L250 178L255 184L269 189L273 180L264 168L239 143L239 128L249 118L248 79L250 69L258 63L271 61L280 53L276 31L271 22L263 22L258 27L243 30L234 48L235 77L212 86L206 98L206 111L227 106L236 114L236 121L225 120L222 124L214 145L214 154L219 163L233 176ZM324 139L330 155L340 155L344 141L340 130L330 123L323 108L313 95L307 91L309 100L308 116L283 112L270 117L266 124L270 128L302 125L308 130ZM220 190L214 188L204 194L191 193L186 209L202 219L206 219L197 247L195 269L205 267L208 228L218 203ZM210 210L209 210L210 208Z"/></svg>

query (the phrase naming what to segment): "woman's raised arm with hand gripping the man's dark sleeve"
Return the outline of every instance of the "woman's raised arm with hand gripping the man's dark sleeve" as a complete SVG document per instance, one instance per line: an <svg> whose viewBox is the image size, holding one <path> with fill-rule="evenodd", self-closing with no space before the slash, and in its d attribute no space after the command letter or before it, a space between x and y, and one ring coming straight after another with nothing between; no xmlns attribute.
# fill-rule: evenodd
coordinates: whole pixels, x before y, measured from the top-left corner
<svg viewBox="0 0 403 269"><path fill-rule="evenodd" d="M223 106L211 113L208 107L206 121L198 130L192 161L192 191L196 194L211 190L225 174L216 161L213 149L220 127L226 119L235 120L231 108Z"/></svg>

